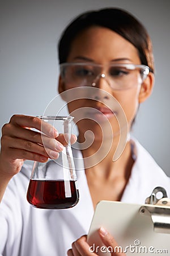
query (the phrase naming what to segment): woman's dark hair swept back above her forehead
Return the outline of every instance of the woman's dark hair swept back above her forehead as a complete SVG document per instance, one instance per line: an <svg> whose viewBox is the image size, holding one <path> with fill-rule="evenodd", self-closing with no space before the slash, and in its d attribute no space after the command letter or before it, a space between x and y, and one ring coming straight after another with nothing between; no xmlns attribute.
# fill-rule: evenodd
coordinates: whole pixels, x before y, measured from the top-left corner
<svg viewBox="0 0 170 256"><path fill-rule="evenodd" d="M141 63L150 67L150 71L154 72L152 42L146 28L131 14L116 8L88 11L76 17L63 31L59 40L59 63L67 61L71 44L76 36L91 26L109 28L128 40L138 49Z"/></svg>

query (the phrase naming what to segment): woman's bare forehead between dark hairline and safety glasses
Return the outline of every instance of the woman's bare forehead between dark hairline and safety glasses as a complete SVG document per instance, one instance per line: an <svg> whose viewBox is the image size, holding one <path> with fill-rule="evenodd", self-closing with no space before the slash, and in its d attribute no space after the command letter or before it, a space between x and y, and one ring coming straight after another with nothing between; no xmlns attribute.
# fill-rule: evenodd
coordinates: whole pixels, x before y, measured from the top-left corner
<svg viewBox="0 0 170 256"><path fill-rule="evenodd" d="M133 44L109 28L98 26L86 28L73 40L67 61L77 56L86 56L99 63L120 58L140 63Z"/></svg>

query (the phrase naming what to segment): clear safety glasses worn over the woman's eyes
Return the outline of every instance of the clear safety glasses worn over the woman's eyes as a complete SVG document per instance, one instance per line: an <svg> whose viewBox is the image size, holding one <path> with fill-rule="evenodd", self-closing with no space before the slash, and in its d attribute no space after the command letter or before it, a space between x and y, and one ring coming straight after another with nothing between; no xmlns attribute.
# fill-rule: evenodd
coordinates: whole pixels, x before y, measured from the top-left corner
<svg viewBox="0 0 170 256"><path fill-rule="evenodd" d="M95 86L100 77L104 77L115 90L128 89L146 79L149 68L145 65L91 63L61 64L61 76L68 88L79 86Z"/></svg>

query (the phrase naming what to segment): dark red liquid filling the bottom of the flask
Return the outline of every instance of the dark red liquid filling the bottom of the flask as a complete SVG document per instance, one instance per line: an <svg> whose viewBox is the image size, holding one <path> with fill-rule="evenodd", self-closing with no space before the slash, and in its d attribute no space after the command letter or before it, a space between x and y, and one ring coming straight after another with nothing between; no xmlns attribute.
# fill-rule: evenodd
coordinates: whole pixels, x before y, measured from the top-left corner
<svg viewBox="0 0 170 256"><path fill-rule="evenodd" d="M27 200L36 208L65 209L74 207L79 201L75 181L69 181L71 197L65 195L63 180L30 180Z"/></svg>

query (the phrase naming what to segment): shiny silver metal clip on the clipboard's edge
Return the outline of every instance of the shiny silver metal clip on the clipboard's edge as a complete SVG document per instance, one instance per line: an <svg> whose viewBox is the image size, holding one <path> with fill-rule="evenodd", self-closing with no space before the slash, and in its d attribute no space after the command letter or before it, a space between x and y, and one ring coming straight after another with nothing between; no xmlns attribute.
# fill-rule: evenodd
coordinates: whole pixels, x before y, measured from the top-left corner
<svg viewBox="0 0 170 256"><path fill-rule="evenodd" d="M156 187L150 197L147 197L139 212L150 216L154 224L154 231L158 233L170 233L170 199L162 187Z"/></svg>

